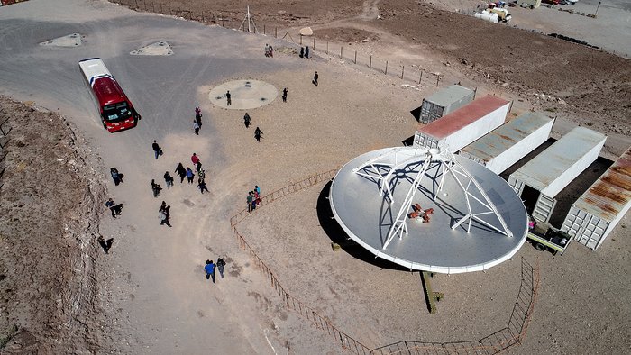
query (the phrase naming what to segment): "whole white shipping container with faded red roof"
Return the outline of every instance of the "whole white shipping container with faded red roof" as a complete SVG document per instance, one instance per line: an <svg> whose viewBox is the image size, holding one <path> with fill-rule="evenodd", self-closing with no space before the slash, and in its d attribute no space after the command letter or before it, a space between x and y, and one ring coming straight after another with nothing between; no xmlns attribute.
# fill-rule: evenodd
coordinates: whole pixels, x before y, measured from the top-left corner
<svg viewBox="0 0 631 355"><path fill-rule="evenodd" d="M510 104L510 101L497 96L484 96L440 120L427 125L419 124L414 146L447 149L455 153L502 125Z"/></svg>

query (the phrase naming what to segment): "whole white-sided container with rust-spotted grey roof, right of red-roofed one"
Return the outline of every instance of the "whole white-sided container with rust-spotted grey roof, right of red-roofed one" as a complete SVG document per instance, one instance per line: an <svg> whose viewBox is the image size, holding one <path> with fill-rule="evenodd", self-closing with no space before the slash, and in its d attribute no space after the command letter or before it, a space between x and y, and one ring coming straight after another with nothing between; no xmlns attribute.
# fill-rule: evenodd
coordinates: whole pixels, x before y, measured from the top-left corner
<svg viewBox="0 0 631 355"><path fill-rule="evenodd" d="M499 174L547 141L553 124L544 114L527 112L462 148L460 154Z"/></svg>

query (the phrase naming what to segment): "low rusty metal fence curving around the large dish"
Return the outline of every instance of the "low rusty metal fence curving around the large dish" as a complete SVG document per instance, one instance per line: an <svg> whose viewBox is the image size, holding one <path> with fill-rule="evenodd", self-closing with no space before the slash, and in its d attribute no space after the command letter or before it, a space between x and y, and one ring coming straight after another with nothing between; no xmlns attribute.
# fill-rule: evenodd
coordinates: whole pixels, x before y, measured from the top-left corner
<svg viewBox="0 0 631 355"><path fill-rule="evenodd" d="M375 355L399 355L399 354L496 354L503 350L520 344L526 337L528 323L532 316L539 288L539 267L538 264L533 266L526 259L521 259L521 283L517 300L513 305L513 310L508 319L508 325L497 332L493 332L488 336L475 341L449 341L449 342L427 342L427 341L398 341L386 346L382 346L373 350L360 341L355 340L347 332L343 332L331 323L327 317L318 314L315 309L301 302L297 297L288 293L285 287L279 282L279 278L272 272L270 267L259 257L256 251L251 247L245 237L237 229L237 224L241 223L251 214L259 211L264 205L270 205L272 202L278 201L282 197L291 195L306 187L312 187L323 181L331 180L337 173L337 169L329 170L324 173L316 174L312 177L306 177L296 183L292 183L287 187L279 188L266 196L261 197L261 204L257 209L249 212L248 208L234 214L230 218L230 226L234 236L239 242L242 250L247 250L254 264L258 266L265 274L270 287L282 298L283 304L288 309L296 312L302 318L310 321L316 328L327 332L328 335L344 350L349 350L355 354L375 354Z"/></svg>

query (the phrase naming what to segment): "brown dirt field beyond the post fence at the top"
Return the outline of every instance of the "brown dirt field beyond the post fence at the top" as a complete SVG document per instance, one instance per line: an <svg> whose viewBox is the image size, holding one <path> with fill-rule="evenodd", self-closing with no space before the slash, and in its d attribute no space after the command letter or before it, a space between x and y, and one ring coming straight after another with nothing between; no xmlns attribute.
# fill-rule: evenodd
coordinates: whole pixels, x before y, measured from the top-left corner
<svg viewBox="0 0 631 355"><path fill-rule="evenodd" d="M205 11L235 18L237 24L247 4L167 3L196 14ZM566 112L575 122L593 125L601 132L631 134L631 60L450 12L483 4L477 0L326 0L314 6L308 1L264 1L251 11L259 27L262 23L269 28L310 25L320 39L360 44L361 50L387 53L391 62L419 55L432 57L439 63L450 63L463 77L522 98L533 99L544 93L561 99L542 104Z"/></svg>

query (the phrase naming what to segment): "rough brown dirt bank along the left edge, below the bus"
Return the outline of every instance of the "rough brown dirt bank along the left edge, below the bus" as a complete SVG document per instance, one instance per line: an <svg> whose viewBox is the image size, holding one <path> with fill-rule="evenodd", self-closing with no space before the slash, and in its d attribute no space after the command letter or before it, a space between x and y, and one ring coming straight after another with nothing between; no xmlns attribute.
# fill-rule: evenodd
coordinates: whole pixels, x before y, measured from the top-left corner
<svg viewBox="0 0 631 355"><path fill-rule="evenodd" d="M8 120L5 122L5 120ZM0 96L0 348L100 349L96 245L103 187L59 114Z"/></svg>

